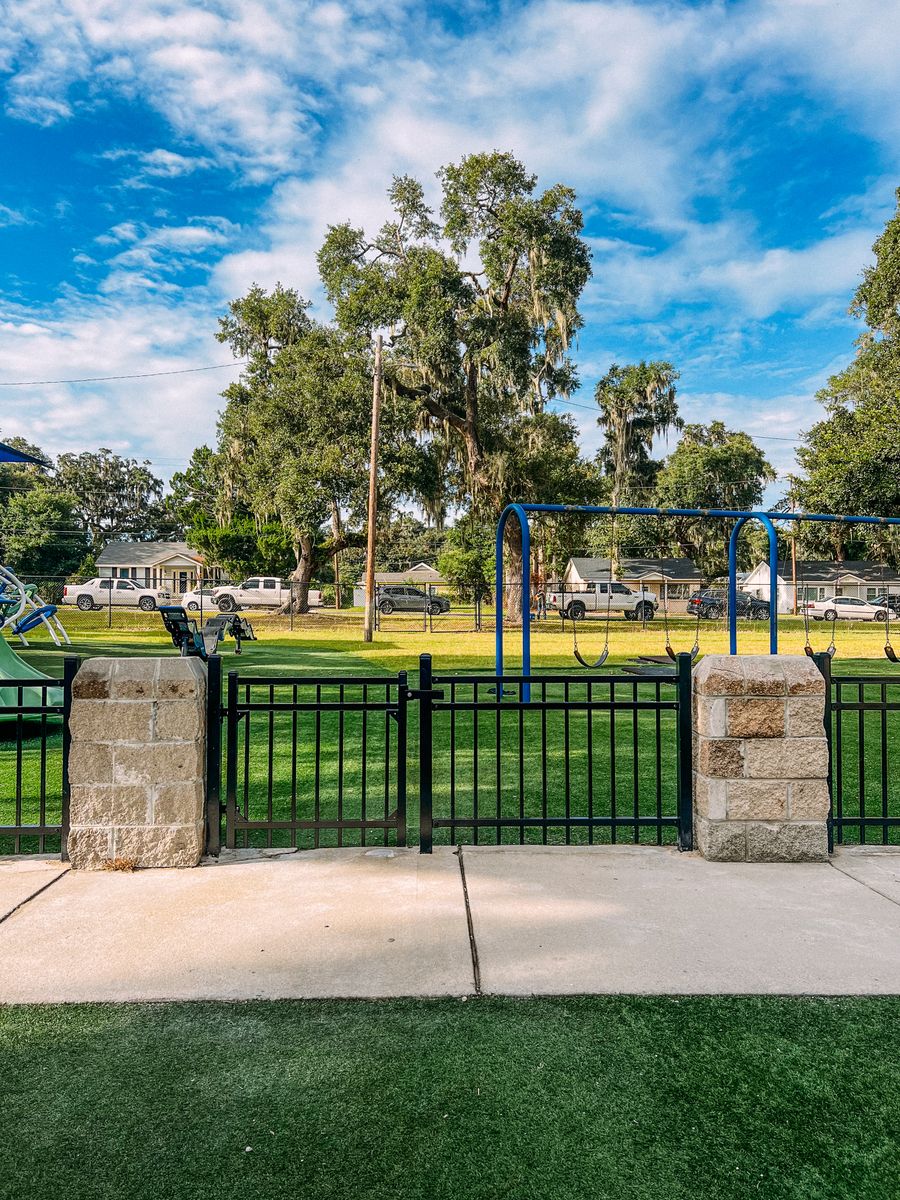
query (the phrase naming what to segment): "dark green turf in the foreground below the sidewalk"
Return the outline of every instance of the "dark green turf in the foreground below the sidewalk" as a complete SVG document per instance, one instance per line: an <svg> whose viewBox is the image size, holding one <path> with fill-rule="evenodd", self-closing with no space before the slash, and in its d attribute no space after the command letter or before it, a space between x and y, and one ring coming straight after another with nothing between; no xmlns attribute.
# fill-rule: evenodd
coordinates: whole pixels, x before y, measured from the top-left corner
<svg viewBox="0 0 900 1200"><path fill-rule="evenodd" d="M0 1009L5 1200L893 1200L900 1000Z"/></svg>

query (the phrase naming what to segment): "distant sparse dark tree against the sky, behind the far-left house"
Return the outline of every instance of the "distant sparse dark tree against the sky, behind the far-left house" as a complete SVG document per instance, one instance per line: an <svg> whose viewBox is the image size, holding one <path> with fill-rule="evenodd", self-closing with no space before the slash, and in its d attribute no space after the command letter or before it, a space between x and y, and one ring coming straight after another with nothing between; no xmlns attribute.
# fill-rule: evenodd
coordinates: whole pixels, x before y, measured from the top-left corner
<svg viewBox="0 0 900 1200"><path fill-rule="evenodd" d="M156 532L162 480L145 460L124 458L101 448L62 454L56 460L56 486L73 498L78 520L96 552L115 538L144 540Z"/></svg>

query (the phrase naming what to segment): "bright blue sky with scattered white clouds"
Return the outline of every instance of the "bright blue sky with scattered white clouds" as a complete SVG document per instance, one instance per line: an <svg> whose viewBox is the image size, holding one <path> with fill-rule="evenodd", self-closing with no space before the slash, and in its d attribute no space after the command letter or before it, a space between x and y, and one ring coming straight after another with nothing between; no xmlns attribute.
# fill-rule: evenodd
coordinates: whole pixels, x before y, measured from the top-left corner
<svg viewBox="0 0 900 1200"><path fill-rule="evenodd" d="M326 316L330 223L499 149L584 212L554 407L586 451L610 365L668 359L685 420L784 478L894 209L898 62L900 0L0 0L0 436L168 476L215 440L230 299L281 281Z"/></svg>

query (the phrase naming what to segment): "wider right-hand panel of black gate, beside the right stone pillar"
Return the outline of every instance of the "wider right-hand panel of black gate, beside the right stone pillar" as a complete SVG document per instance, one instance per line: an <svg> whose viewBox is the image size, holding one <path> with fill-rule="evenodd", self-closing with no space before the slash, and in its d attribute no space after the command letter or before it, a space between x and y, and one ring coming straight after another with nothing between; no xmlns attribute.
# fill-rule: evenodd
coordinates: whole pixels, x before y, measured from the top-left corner
<svg viewBox="0 0 900 1200"><path fill-rule="evenodd" d="M638 676L436 676L420 659L420 848L691 848L690 656Z"/></svg>

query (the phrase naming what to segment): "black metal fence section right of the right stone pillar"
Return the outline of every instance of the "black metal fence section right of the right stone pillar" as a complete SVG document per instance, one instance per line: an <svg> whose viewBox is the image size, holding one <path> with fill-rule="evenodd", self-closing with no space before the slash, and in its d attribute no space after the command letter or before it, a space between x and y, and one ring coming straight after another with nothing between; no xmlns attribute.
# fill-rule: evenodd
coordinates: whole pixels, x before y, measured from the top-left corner
<svg viewBox="0 0 900 1200"><path fill-rule="evenodd" d="M900 845L900 674L826 677L830 752L829 848Z"/></svg>

